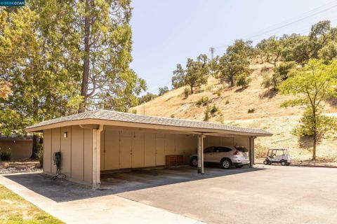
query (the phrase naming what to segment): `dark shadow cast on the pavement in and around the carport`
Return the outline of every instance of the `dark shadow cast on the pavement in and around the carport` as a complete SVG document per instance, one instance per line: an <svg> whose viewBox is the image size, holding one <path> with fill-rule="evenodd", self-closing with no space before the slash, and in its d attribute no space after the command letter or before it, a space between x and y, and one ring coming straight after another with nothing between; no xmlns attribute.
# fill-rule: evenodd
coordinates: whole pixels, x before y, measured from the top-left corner
<svg viewBox="0 0 337 224"><path fill-rule="evenodd" d="M178 167L165 169L132 169L129 172L117 172L101 175L101 189L92 190L88 186L82 186L67 180L51 180L45 174L15 174L4 177L19 183L25 188L48 197L55 202L70 202L83 200L91 197L100 197L117 193L126 193L144 188L167 186L170 184L183 183L187 181L199 181L212 179L220 176L256 172L261 169L218 169L208 167L205 174L197 174L194 167Z"/></svg>

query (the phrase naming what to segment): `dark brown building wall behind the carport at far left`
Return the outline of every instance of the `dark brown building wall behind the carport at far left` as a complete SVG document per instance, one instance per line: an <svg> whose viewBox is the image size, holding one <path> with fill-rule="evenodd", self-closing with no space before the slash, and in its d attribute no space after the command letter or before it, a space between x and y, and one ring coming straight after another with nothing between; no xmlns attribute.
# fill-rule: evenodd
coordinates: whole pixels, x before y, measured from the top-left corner
<svg viewBox="0 0 337 224"><path fill-rule="evenodd" d="M1 151L6 151L11 148L11 160L30 158L32 155L32 140L15 140L13 141L0 141Z"/></svg>

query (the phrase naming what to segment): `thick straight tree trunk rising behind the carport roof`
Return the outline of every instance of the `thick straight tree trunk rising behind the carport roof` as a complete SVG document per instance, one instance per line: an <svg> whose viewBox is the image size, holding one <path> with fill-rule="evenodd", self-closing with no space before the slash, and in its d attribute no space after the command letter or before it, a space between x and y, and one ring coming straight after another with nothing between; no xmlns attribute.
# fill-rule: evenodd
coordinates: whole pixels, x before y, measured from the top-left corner
<svg viewBox="0 0 337 224"><path fill-rule="evenodd" d="M86 0L86 16L84 18L84 64L83 64L83 77L81 85L81 96L83 97L81 104L79 104L79 113L82 113L86 109L86 100L88 93L88 81L90 71L90 18L88 16L89 0Z"/></svg>

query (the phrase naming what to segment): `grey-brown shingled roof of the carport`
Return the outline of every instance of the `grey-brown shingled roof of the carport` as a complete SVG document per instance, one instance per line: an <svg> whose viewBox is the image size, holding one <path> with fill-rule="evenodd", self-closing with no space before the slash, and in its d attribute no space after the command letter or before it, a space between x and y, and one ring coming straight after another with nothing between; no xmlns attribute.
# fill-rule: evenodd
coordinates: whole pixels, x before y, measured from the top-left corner
<svg viewBox="0 0 337 224"><path fill-rule="evenodd" d="M162 118L155 116L144 116L134 113L122 113L117 111L88 111L84 113L78 113L72 116L65 116L61 118L56 118L53 120L46 120L36 125L32 125L26 128L27 132L34 132L37 130L48 129L48 126L54 124L62 124L70 121L81 121L81 120L93 120L92 124L95 124L95 120L107 120L107 121L117 121L123 123L137 123L144 125L163 125L170 127L186 127L191 128L195 132L203 132L205 130L214 130L216 131L229 131L229 132L238 132L251 134L251 136L271 136L270 132L265 130L245 128L245 127L236 127L229 125L222 125L217 123L202 122L197 120L184 120L176 118ZM61 125L60 125L61 126ZM63 125L62 125L63 126ZM40 129L41 127L41 129Z"/></svg>

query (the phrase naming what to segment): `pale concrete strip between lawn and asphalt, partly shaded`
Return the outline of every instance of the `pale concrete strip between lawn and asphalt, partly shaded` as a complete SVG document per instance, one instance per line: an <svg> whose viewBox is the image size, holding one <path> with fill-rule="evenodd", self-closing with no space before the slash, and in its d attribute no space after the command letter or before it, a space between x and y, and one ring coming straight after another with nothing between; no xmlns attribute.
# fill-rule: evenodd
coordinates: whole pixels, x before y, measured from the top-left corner
<svg viewBox="0 0 337 224"><path fill-rule="evenodd" d="M0 184L65 223L203 223L164 209L43 174L0 176Z"/></svg>

